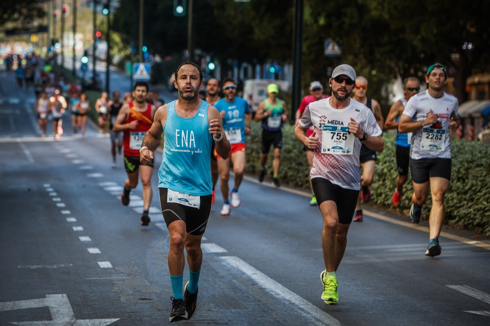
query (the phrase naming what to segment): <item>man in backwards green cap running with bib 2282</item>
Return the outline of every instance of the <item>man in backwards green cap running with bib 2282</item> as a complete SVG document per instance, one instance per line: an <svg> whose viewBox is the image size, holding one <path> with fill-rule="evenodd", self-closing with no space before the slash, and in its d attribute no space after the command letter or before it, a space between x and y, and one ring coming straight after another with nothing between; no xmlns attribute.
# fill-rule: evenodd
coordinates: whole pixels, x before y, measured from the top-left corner
<svg viewBox="0 0 490 326"><path fill-rule="evenodd" d="M410 218L418 223L422 205L432 193L432 208L429 218L429 245L425 255L441 254L439 234L444 221L444 195L451 178L450 131L460 125L458 99L443 92L447 82L444 66L436 63L427 69L425 76L428 89L412 96L400 118L398 131L412 132L410 148L410 171L414 184Z"/></svg>

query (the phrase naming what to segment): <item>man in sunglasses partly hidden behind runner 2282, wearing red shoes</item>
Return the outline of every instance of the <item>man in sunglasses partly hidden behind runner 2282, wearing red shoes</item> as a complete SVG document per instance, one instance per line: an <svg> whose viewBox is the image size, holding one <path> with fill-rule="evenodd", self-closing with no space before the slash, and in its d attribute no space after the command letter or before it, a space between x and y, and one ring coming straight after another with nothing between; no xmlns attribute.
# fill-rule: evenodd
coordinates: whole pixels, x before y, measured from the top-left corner
<svg viewBox="0 0 490 326"><path fill-rule="evenodd" d="M403 185L408 179L408 165L410 163L410 142L412 133L400 134L398 132L398 124L400 117L407 105L410 97L420 91L420 82L416 77L408 77L403 80L403 92L405 96L394 102L390 108L390 113L386 117L385 129L396 129L395 153L396 166L398 169L398 177L396 178L396 188L393 193L392 202L394 207L400 206L400 198L403 194Z"/></svg>

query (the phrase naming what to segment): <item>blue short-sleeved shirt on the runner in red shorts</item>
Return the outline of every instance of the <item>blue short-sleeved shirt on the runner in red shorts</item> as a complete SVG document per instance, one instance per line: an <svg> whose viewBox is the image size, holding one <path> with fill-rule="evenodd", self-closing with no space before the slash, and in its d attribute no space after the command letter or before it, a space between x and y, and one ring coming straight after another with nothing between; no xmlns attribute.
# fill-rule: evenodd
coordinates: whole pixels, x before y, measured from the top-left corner
<svg viewBox="0 0 490 326"><path fill-rule="evenodd" d="M250 106L242 97L235 97L233 102L221 98L214 104L218 112L225 112L223 129L226 139L231 144L245 142L245 113L250 113Z"/></svg>

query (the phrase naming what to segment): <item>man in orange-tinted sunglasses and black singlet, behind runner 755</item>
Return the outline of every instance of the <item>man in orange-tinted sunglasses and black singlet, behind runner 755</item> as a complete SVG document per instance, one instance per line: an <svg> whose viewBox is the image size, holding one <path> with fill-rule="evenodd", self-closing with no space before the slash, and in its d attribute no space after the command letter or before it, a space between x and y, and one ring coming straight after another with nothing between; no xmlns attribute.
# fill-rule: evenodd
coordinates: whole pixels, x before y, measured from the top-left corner
<svg viewBox="0 0 490 326"><path fill-rule="evenodd" d="M381 114L381 107L378 101L372 98L368 98L366 93L368 92L368 79L363 76L357 76L356 86L354 87L354 100L366 105L376 117L376 121L380 128L383 127L383 115ZM361 177L361 192L357 199L356 215L354 216L354 222L363 221L363 209L361 206L361 199L363 202L368 203L371 200L371 190L369 186L372 185L374 179L374 167L376 164L376 152L368 148L366 145L361 146L361 152L359 154L359 162L363 169L363 175Z"/></svg>

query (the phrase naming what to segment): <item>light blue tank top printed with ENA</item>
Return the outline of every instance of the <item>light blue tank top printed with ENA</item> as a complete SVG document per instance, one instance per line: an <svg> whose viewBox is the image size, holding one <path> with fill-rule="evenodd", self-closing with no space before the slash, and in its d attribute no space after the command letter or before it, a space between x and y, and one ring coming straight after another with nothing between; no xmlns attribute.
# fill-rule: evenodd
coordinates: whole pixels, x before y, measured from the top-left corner
<svg viewBox="0 0 490 326"><path fill-rule="evenodd" d="M168 105L167 120L163 126L163 160L158 169L158 187L169 188L193 196L210 195L211 144L208 106L201 101L196 115L177 116L175 101Z"/></svg>

